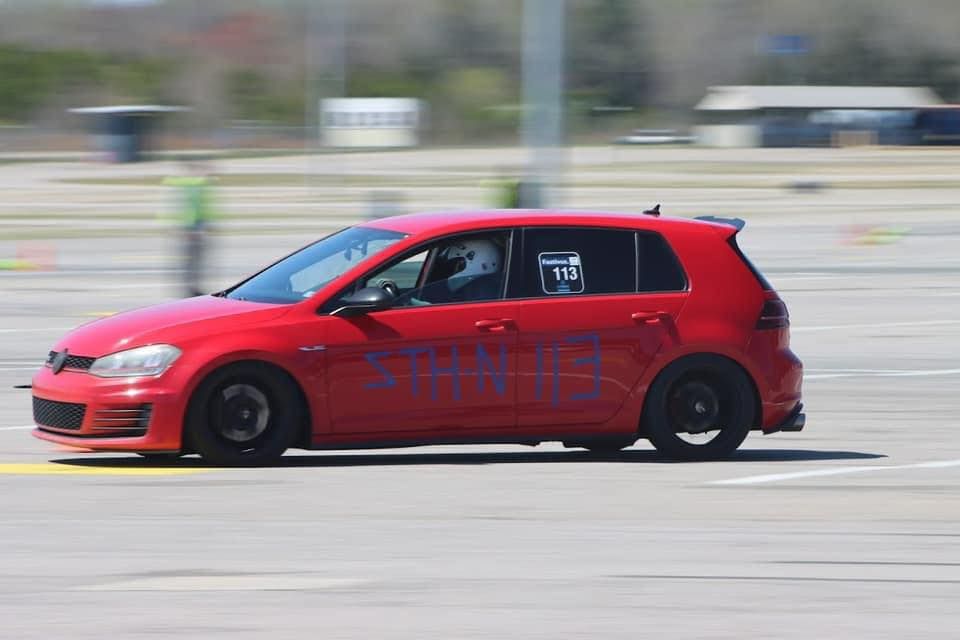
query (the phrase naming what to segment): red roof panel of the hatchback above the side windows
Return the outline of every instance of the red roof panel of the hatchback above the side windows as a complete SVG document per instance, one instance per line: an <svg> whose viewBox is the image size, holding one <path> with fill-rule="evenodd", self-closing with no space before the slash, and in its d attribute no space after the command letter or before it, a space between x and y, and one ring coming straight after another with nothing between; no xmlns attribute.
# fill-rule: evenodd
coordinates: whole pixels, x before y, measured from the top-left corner
<svg viewBox="0 0 960 640"><path fill-rule="evenodd" d="M721 229L735 231L724 224L675 218L671 216L651 216L641 213L614 213L594 211L561 211L544 209L482 209L469 211L434 211L414 213L388 218L377 218L364 223L364 226L389 229L411 235L442 235L470 231L471 229L489 229L490 227L521 226L595 226L620 227L664 231L671 227Z"/></svg>

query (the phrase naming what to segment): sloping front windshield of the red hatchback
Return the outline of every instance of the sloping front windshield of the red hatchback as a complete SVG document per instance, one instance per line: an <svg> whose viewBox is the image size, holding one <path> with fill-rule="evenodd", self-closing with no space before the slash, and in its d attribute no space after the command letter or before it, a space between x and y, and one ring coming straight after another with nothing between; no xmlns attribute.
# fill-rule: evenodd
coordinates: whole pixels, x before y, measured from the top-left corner
<svg viewBox="0 0 960 640"><path fill-rule="evenodd" d="M406 234L350 227L287 256L230 289L226 297L274 304L300 302Z"/></svg>

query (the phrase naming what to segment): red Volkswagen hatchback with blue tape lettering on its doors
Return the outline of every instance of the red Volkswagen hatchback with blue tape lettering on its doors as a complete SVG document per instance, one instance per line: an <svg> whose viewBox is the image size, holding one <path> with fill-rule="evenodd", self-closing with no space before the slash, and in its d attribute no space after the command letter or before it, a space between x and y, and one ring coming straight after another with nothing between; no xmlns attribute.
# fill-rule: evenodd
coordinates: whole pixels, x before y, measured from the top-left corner
<svg viewBox="0 0 960 640"><path fill-rule="evenodd" d="M34 434L267 464L290 447L561 441L730 455L803 427L742 221L480 211L344 229L240 284L75 329Z"/></svg>

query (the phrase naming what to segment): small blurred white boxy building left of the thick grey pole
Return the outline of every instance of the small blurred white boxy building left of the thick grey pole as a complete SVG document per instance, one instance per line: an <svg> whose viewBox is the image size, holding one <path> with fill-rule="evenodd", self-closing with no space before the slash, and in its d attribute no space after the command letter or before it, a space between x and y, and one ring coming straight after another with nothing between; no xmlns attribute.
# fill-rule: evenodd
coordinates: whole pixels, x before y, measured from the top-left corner
<svg viewBox="0 0 960 640"><path fill-rule="evenodd" d="M415 147L421 108L413 98L330 98L320 105L328 147Z"/></svg>

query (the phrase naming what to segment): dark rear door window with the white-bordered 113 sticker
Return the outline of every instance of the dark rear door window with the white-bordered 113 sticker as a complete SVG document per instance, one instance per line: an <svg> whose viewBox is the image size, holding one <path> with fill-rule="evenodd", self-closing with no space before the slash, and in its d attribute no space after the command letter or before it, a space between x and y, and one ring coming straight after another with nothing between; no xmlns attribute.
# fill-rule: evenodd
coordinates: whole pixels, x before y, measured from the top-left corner
<svg viewBox="0 0 960 640"><path fill-rule="evenodd" d="M523 231L520 286L511 294L539 298L635 293L636 250L633 231L529 227Z"/></svg>

